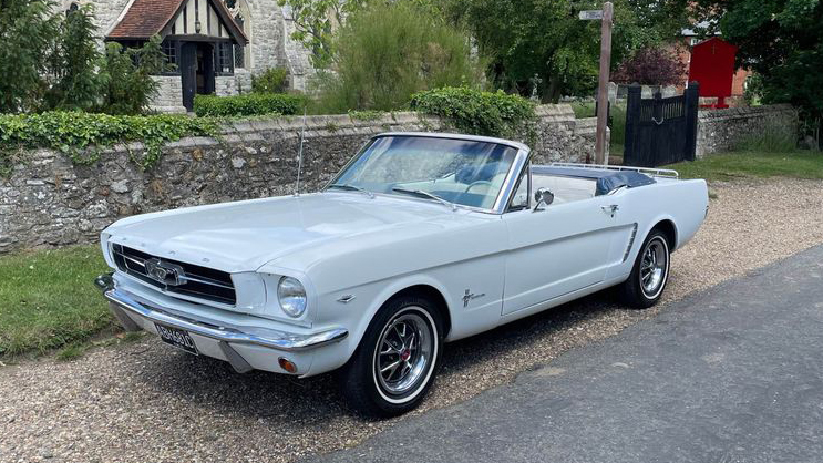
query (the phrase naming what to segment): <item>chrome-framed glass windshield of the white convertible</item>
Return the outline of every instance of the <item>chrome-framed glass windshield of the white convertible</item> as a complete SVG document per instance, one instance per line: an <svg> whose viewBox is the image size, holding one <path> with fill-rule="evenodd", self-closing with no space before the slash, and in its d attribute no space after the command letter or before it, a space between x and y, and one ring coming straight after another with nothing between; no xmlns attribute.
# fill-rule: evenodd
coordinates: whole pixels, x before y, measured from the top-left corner
<svg viewBox="0 0 823 463"><path fill-rule="evenodd" d="M381 136L330 184L491 209L517 148L425 136ZM434 197L432 197L434 196Z"/></svg>

